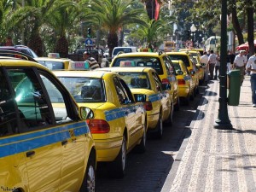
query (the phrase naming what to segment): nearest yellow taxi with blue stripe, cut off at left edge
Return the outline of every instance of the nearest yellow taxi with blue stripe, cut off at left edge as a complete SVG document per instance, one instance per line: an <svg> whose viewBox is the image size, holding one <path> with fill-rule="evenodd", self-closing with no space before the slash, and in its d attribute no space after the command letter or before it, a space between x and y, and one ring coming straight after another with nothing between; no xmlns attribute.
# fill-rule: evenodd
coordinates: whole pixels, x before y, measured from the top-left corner
<svg viewBox="0 0 256 192"><path fill-rule="evenodd" d="M34 61L0 56L0 79L0 191L94 191L88 108Z"/></svg>

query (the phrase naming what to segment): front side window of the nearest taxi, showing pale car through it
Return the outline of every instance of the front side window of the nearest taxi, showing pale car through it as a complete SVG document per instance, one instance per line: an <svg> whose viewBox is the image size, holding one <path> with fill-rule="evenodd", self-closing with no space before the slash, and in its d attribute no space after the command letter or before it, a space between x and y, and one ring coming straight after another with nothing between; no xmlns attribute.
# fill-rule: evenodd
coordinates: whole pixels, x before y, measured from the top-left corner
<svg viewBox="0 0 256 192"><path fill-rule="evenodd" d="M61 90L59 90L44 74L41 73L40 76L43 80L45 89L48 92L56 123L61 124L72 121L72 119L68 118L67 106L65 104L64 96L61 94Z"/></svg>

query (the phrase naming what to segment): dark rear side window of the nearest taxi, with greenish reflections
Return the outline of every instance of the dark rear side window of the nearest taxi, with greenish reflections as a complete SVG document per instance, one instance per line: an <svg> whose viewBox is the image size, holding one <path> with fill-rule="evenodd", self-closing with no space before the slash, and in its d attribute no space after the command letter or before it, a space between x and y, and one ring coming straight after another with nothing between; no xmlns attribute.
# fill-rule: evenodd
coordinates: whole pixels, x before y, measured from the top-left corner
<svg viewBox="0 0 256 192"><path fill-rule="evenodd" d="M7 69L15 88L15 101L21 113L22 131L32 131L52 124L44 91L32 68Z"/></svg>

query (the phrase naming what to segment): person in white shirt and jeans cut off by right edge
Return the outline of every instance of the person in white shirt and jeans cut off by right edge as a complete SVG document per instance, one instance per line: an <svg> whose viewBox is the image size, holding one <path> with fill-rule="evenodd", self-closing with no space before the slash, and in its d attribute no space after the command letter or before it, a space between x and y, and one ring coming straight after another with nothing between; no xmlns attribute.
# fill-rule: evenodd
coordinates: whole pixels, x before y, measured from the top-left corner
<svg viewBox="0 0 256 192"><path fill-rule="evenodd" d="M253 108L256 108L256 49L254 49L254 55L252 55L248 61L246 66L247 72L251 72L251 89L252 89L252 102Z"/></svg>

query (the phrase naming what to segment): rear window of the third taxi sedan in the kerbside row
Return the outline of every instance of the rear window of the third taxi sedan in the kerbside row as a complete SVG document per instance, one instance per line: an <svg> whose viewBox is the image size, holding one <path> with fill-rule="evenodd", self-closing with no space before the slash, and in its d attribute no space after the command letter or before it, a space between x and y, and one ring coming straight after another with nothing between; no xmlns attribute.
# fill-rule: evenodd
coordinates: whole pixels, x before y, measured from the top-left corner
<svg viewBox="0 0 256 192"><path fill-rule="evenodd" d="M119 75L132 89L150 89L147 73L120 72Z"/></svg>

